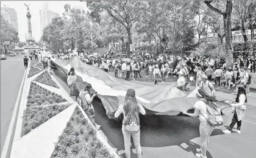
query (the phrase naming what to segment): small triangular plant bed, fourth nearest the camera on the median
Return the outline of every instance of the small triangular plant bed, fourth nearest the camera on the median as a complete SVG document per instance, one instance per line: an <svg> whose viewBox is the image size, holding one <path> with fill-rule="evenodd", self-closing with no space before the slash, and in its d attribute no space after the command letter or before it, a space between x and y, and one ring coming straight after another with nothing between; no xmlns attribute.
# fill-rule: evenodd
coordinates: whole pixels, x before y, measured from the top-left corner
<svg viewBox="0 0 256 158"><path fill-rule="evenodd" d="M37 81L39 83L46 84L48 86L52 86L54 88L60 88L57 83L55 83L54 80L52 80L51 75L49 74L48 70L45 70L41 75L39 75L37 78L35 78L34 81Z"/></svg>

